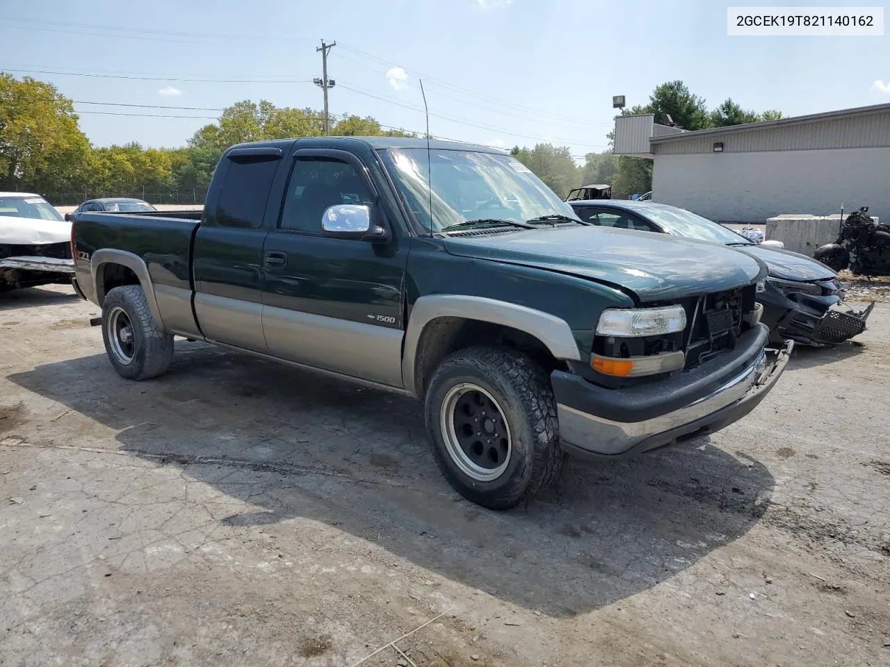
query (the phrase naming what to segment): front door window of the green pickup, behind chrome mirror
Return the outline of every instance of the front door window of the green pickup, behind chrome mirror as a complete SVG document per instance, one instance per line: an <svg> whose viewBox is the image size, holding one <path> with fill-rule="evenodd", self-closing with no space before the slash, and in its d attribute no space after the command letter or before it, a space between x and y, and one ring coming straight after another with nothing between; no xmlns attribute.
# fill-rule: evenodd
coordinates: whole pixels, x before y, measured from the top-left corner
<svg viewBox="0 0 890 667"><path fill-rule="evenodd" d="M352 165L329 157L300 157L287 183L279 229L321 233L321 216L337 204L371 205L368 187Z"/></svg>

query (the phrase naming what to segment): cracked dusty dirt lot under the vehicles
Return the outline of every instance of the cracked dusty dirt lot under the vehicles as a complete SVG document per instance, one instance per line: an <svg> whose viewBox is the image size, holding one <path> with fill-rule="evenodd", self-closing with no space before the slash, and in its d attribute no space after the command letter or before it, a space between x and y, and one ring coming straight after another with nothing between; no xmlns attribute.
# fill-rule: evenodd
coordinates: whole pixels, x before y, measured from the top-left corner
<svg viewBox="0 0 890 667"><path fill-rule="evenodd" d="M743 422L508 513L407 399L184 341L126 382L95 314L0 297L4 666L890 664L890 305Z"/></svg>

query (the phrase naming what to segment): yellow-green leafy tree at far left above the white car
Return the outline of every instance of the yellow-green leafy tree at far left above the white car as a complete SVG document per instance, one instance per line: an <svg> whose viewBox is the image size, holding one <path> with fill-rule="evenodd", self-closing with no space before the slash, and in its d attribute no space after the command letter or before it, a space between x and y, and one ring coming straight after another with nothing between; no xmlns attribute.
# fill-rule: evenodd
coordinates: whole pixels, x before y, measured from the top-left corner
<svg viewBox="0 0 890 667"><path fill-rule="evenodd" d="M71 100L52 84L0 72L0 189L77 187L88 153Z"/></svg>

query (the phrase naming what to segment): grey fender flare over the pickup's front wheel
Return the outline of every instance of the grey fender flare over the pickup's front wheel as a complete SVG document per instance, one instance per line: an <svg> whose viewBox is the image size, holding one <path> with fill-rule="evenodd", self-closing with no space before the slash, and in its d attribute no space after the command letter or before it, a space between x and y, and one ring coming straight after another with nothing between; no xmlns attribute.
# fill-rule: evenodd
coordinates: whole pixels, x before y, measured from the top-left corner
<svg viewBox="0 0 890 667"><path fill-rule="evenodd" d="M417 345L427 325L439 317L459 317L509 326L543 342L557 359L579 360L578 343L569 324L560 317L518 303L465 294L430 294L414 302L405 332L401 377L405 389L417 396Z"/></svg>

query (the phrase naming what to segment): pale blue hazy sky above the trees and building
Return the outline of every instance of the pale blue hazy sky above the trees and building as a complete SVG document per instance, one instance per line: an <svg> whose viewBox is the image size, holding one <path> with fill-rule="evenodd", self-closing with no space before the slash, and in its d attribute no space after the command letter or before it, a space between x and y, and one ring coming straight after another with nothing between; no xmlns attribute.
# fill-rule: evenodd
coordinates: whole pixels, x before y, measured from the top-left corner
<svg viewBox="0 0 890 667"><path fill-rule="evenodd" d="M675 79L711 108L785 116L890 102L890 36L727 36L714 0L0 0L0 16L0 70L76 100L95 146L182 146L238 100L321 109L322 39L333 114L422 133L420 78L433 135L578 160L607 148L613 95L644 104Z"/></svg>

